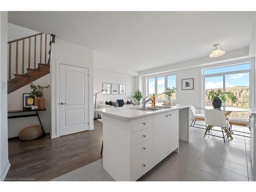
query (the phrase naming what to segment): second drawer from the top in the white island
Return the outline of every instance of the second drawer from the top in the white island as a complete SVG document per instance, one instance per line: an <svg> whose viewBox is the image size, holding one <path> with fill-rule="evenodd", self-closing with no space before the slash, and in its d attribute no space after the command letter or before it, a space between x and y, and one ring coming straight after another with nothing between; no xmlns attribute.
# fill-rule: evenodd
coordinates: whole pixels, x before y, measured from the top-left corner
<svg viewBox="0 0 256 192"><path fill-rule="evenodd" d="M131 134L131 146L153 137L153 126Z"/></svg>

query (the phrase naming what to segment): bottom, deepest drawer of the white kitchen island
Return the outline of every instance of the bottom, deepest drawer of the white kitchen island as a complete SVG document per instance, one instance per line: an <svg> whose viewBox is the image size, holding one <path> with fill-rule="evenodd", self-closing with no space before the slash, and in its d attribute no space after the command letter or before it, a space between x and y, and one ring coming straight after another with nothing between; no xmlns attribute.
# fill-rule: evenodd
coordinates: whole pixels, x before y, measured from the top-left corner
<svg viewBox="0 0 256 192"><path fill-rule="evenodd" d="M131 180L136 181L153 168L153 149L131 161Z"/></svg>

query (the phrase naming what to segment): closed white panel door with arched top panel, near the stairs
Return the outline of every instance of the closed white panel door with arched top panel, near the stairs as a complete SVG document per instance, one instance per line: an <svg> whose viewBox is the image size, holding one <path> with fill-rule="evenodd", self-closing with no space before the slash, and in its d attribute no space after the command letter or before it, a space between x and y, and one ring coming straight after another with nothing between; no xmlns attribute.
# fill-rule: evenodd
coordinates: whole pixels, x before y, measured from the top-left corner
<svg viewBox="0 0 256 192"><path fill-rule="evenodd" d="M60 65L60 136L88 130L88 103L88 69Z"/></svg>

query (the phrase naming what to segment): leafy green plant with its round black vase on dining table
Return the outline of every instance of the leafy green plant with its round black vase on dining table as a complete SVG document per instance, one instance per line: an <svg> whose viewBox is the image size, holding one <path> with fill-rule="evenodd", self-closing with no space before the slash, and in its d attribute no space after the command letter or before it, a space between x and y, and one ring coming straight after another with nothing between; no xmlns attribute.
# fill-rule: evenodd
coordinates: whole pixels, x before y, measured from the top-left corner
<svg viewBox="0 0 256 192"><path fill-rule="evenodd" d="M231 93L223 92L221 89L218 89L217 91L211 90L207 93L207 98L212 101L212 106L214 108L221 108L222 101L226 102L227 98L231 100L232 103L235 103L237 101L237 97Z"/></svg>

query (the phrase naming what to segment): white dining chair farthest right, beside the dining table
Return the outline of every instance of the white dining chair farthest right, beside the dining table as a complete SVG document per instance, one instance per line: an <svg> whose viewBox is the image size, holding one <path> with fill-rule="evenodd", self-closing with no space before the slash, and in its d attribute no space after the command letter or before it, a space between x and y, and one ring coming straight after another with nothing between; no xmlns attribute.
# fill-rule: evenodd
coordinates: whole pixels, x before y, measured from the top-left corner
<svg viewBox="0 0 256 192"><path fill-rule="evenodd" d="M251 124L250 124L250 118L240 118L240 117L230 117L228 120L229 123L229 133L233 135L238 135L238 136L243 136L243 137L249 137L246 135L239 135L239 134L234 134L233 132L240 132L240 133L245 133L245 134L250 134L247 132L242 132L242 131L231 131L232 130L232 125L237 125L237 126L243 126L243 127L248 127L249 130L251 131Z"/></svg>

